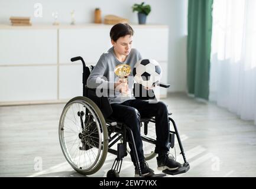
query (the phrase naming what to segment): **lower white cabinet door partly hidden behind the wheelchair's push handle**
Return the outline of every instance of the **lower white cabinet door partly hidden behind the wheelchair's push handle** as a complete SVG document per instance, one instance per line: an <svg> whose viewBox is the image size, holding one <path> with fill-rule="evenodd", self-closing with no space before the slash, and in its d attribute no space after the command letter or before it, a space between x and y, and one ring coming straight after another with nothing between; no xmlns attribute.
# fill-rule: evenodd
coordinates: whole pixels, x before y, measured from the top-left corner
<svg viewBox="0 0 256 189"><path fill-rule="evenodd" d="M82 74L82 64L60 66L59 95L61 100L71 99L75 96L83 96Z"/></svg>

